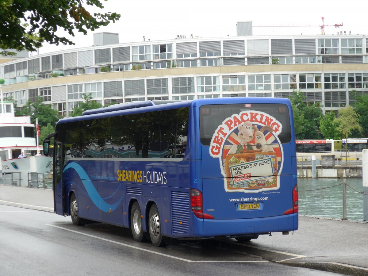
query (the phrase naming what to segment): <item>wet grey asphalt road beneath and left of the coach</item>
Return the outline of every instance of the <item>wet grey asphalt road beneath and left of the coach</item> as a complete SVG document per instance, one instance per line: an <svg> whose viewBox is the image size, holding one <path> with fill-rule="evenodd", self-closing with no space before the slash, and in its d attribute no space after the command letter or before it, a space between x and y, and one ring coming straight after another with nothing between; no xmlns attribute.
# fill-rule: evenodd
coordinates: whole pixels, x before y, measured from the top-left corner
<svg viewBox="0 0 368 276"><path fill-rule="evenodd" d="M158 248L135 242L129 229L74 226L70 217L0 205L1 275L336 275L276 263L254 250L252 242L240 252L219 240Z"/></svg>

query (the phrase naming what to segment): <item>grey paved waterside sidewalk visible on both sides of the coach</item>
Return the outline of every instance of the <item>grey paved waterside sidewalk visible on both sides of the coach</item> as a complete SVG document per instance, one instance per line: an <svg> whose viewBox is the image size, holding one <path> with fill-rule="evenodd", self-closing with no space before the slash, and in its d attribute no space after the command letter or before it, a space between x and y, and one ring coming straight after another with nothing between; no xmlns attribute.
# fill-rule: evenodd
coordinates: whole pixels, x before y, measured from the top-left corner
<svg viewBox="0 0 368 276"><path fill-rule="evenodd" d="M0 204L53 212L53 191L0 185ZM252 243L256 248L294 254L293 258L275 259L279 263L345 275L368 275L366 222L299 216L299 229L293 235L275 233L273 237L261 237Z"/></svg>

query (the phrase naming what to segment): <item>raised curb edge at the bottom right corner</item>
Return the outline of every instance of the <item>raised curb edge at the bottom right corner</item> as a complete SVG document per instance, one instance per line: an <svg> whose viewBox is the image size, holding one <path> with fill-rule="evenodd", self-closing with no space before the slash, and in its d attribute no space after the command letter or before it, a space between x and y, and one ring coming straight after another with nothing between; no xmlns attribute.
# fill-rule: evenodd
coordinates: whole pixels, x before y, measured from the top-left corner
<svg viewBox="0 0 368 276"><path fill-rule="evenodd" d="M346 265L344 263L336 262L289 262L289 261L277 261L284 265L316 269L322 271L328 271L333 273L340 273L344 275L354 275L354 276L367 276L368 268L362 268L354 265Z"/></svg>

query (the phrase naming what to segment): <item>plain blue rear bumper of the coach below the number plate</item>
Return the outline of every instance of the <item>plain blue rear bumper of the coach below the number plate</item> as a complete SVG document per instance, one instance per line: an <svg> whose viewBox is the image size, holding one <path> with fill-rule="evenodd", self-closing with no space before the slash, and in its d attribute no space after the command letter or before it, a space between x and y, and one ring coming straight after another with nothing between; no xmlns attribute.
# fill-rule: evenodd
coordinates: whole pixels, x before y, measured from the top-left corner
<svg viewBox="0 0 368 276"><path fill-rule="evenodd" d="M257 219L205 219L204 236L241 236L298 229L298 213Z"/></svg>

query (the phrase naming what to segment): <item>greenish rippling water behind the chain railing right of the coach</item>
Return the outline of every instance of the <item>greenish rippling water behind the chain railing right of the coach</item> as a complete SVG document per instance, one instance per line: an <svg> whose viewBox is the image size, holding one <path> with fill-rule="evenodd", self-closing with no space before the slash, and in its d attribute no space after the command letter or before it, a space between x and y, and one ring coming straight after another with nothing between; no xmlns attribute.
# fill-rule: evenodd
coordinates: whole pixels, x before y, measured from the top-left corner
<svg viewBox="0 0 368 276"><path fill-rule="evenodd" d="M343 185L331 186L344 181L355 190L363 191L362 178L298 178L299 214L342 219ZM316 190L325 187L330 188ZM346 186L346 218L363 220L363 195L348 186Z"/></svg>

